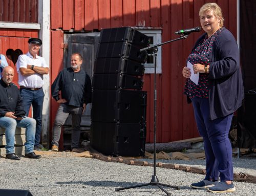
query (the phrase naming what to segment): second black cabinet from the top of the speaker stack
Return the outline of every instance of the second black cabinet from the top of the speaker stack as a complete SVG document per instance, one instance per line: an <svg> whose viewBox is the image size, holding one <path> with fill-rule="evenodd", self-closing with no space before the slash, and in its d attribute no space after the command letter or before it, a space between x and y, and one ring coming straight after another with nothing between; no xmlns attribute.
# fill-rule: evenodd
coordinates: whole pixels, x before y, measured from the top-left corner
<svg viewBox="0 0 256 196"><path fill-rule="evenodd" d="M146 53L140 52L142 47L137 47L129 42L99 43L96 58L125 57L141 63L145 62Z"/></svg>

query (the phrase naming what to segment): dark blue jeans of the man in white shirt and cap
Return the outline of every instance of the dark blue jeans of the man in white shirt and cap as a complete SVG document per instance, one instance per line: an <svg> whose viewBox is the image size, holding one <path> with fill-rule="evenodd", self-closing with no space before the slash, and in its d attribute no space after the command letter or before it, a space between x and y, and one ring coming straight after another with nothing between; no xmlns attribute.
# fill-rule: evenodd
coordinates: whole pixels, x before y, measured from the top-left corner
<svg viewBox="0 0 256 196"><path fill-rule="evenodd" d="M44 102L44 91L42 89L38 91L30 91L27 89L20 89L20 95L23 98L24 110L26 116L29 115L29 109L32 104L33 106L33 118L36 120L35 129L35 146L39 145L41 137L42 127L42 103Z"/></svg>

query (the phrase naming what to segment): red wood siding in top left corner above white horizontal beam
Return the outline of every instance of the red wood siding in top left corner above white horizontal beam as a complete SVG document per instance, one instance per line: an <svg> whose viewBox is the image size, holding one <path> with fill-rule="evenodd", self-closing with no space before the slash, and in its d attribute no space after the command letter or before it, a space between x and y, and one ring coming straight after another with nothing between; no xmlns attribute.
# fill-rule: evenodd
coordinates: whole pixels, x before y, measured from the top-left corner
<svg viewBox="0 0 256 196"><path fill-rule="evenodd" d="M0 21L37 23L38 0L1 0Z"/></svg>

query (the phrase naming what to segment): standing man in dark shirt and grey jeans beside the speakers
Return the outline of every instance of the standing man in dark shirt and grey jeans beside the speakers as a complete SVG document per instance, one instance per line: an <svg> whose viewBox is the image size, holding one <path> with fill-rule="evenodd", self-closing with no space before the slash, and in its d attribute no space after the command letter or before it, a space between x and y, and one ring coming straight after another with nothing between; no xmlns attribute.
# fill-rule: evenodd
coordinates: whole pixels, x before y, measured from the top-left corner
<svg viewBox="0 0 256 196"><path fill-rule="evenodd" d="M71 68L63 69L52 84L52 97L59 103L53 124L52 151L58 151L61 126L69 114L72 115L72 151L76 151L79 146L81 116L92 97L91 79L81 70L81 64L82 56L79 53L72 54Z"/></svg>

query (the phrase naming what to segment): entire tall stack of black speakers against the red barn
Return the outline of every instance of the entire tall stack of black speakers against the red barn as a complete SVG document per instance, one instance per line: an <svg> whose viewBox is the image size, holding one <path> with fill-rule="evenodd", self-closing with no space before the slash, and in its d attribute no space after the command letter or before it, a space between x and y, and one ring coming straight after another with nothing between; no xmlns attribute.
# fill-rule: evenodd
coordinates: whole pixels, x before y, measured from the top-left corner
<svg viewBox="0 0 256 196"><path fill-rule="evenodd" d="M91 145L113 156L144 156L148 37L131 27L103 29L94 65Z"/></svg>

